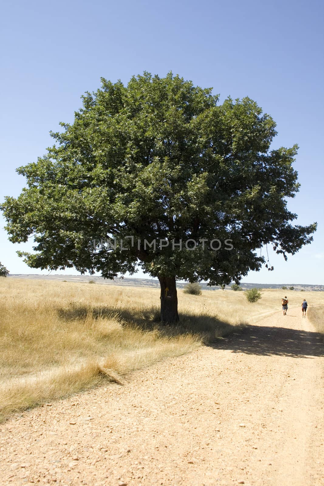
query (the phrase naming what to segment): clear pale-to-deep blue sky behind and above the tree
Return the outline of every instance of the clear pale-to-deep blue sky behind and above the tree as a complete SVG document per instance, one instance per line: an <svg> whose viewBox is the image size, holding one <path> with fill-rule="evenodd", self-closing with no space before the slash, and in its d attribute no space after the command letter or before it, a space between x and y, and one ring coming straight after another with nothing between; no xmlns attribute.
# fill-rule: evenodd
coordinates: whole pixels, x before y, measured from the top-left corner
<svg viewBox="0 0 324 486"><path fill-rule="evenodd" d="M273 147L300 146L302 186L289 208L298 224L318 222L314 242L288 262L271 255L273 272L243 281L323 284L322 2L17 1L1 14L0 201L20 193L15 169L45 153L49 131L73 120L101 76L127 83L144 70L172 70L221 100L250 96L277 122ZM0 218L2 263L11 273L41 273L16 255L32 244L8 242L3 226Z"/></svg>

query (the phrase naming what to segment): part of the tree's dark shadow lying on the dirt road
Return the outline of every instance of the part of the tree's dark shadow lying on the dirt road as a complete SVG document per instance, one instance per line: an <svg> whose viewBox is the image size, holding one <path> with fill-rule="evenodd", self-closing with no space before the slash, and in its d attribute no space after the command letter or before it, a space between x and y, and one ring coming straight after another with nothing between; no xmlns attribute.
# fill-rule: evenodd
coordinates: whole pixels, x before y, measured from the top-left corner
<svg viewBox="0 0 324 486"><path fill-rule="evenodd" d="M246 326L210 346L214 349L228 349L233 353L262 356L308 359L324 356L320 333L275 326Z"/></svg>

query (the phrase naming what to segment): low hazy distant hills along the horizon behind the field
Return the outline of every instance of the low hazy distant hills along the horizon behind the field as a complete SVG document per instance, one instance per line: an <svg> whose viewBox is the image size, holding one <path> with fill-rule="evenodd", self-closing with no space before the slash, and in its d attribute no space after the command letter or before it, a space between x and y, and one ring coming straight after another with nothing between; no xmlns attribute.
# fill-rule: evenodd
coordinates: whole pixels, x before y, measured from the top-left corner
<svg viewBox="0 0 324 486"><path fill-rule="evenodd" d="M108 285L128 285L128 286L140 286L140 287L160 287L160 283L155 278L115 278L115 280L106 280L102 277L95 277L89 275L36 275L36 274L9 274L8 278L30 278L30 279L44 279L44 280L58 280L66 282L89 282L108 284ZM178 288L183 288L186 282L177 282ZM206 282L200 282L203 290L217 290L220 287L208 287ZM281 289L283 286L294 287L294 290L307 290L307 291L324 291L324 285L307 285L301 283L242 283L242 289L252 289L257 287L259 289ZM225 290L230 290L230 285L226 285ZM291 292L291 291L290 291Z"/></svg>

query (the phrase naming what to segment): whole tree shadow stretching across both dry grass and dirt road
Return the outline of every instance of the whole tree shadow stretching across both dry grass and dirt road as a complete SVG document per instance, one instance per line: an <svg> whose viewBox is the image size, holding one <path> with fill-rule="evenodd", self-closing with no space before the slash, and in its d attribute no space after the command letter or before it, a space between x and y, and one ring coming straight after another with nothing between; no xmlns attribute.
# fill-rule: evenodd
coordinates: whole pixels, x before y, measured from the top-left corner
<svg viewBox="0 0 324 486"><path fill-rule="evenodd" d="M207 346L228 349L233 353L292 358L324 356L324 344L318 332L275 326L251 326L245 323L233 326L209 314L183 312L180 313L180 321L176 325L163 325L157 306L123 308L71 304L69 308L58 309L57 313L60 319L73 321L83 321L88 316L92 319L114 318L119 320L122 327L136 327L143 332L158 329L161 336L199 334ZM227 336L226 339L218 339L224 336Z"/></svg>

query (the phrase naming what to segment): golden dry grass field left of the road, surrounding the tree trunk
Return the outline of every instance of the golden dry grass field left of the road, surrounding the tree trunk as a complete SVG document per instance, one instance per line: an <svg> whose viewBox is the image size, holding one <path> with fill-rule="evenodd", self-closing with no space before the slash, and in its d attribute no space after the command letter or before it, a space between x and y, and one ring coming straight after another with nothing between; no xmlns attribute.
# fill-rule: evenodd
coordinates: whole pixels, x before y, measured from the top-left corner
<svg viewBox="0 0 324 486"><path fill-rule="evenodd" d="M165 357L188 353L280 312L283 291L178 292L180 323L158 322L159 290L91 283L0 279L0 418L123 377ZM290 292L323 304L324 293ZM316 302L313 301L316 299ZM289 311L290 312L290 311Z"/></svg>

